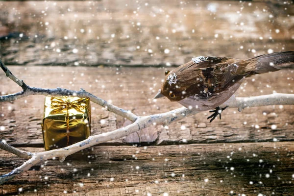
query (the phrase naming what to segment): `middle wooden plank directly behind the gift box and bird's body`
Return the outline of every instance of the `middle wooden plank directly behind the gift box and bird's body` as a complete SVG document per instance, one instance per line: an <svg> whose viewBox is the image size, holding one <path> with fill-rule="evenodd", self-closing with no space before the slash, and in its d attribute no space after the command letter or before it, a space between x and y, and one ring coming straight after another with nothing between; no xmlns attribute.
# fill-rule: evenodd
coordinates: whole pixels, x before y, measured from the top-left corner
<svg viewBox="0 0 294 196"><path fill-rule="evenodd" d="M160 88L166 69L161 68L109 68L109 67L18 67L9 69L26 84L43 88L83 88L94 95L137 115L150 115L180 107L168 99L151 99ZM46 73L46 74L42 74ZM56 79L58 78L58 79ZM256 75L246 79L239 96L258 96L277 93L293 93L293 70ZM254 80L254 81L253 81ZM144 81L144 82L143 82ZM16 93L21 90L4 73L0 73L0 92ZM92 103L92 135L122 127L125 120ZM42 147L41 122L44 97L30 96L13 103L0 103L0 138L21 147ZM161 124L139 131L141 144L164 145L187 143L232 143L294 140L294 106L265 106L226 109L221 121L206 120L208 112L174 122L165 129ZM266 115L264 115L266 114ZM103 121L101 121L103 120ZM246 122L246 123L245 123ZM277 125L271 129L271 125ZM182 126L186 128L181 129ZM258 128L259 127L259 128ZM137 133L103 145L138 143ZM186 141L185 141L186 140Z"/></svg>

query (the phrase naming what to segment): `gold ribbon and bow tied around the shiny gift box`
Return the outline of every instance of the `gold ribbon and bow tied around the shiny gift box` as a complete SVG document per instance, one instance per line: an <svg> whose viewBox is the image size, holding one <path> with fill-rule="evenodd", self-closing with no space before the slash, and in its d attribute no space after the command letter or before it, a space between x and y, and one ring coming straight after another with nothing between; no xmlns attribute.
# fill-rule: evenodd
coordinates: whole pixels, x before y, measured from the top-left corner
<svg viewBox="0 0 294 196"><path fill-rule="evenodd" d="M62 110L66 109L66 116L65 116L65 122L66 122L66 132L67 132L67 145L69 145L69 139L70 139L70 115L69 110L75 109L78 112L83 112L82 110L87 109L87 105L81 105L82 102L85 100L89 100L89 98L80 98L77 100L74 100L72 102L64 101L61 98L51 97L51 107L56 107L56 109L52 110L52 112L61 112ZM90 110L89 110L90 113ZM91 115L91 114L90 114Z"/></svg>

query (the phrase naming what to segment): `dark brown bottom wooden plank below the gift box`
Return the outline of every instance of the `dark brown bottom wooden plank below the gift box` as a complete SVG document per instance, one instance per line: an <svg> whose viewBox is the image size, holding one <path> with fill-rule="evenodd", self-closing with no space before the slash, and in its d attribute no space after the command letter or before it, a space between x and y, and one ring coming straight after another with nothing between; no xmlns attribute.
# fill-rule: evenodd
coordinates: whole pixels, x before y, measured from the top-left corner
<svg viewBox="0 0 294 196"><path fill-rule="evenodd" d="M35 166L0 185L0 194L292 196L293 151L292 142L93 147ZM24 161L3 150L0 157L1 174Z"/></svg>

